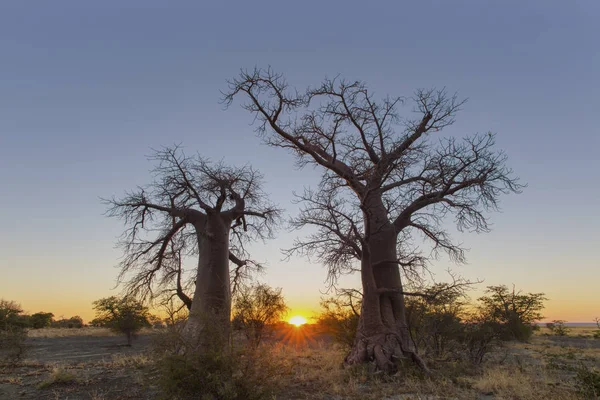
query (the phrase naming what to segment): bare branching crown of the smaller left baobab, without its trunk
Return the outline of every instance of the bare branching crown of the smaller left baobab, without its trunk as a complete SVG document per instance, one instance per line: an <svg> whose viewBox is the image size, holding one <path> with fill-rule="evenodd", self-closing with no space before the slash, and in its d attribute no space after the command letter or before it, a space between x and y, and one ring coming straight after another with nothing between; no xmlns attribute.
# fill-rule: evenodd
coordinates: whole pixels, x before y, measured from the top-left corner
<svg viewBox="0 0 600 400"><path fill-rule="evenodd" d="M190 308L198 238L208 245L214 239L207 214L229 226L232 251L247 258L244 244L272 236L280 210L268 202L262 176L249 166L188 157L179 146L155 151L150 160L157 163L154 182L122 199L104 200L107 214L126 226L119 282L129 294L153 299L171 293ZM188 261L193 267L185 267ZM243 271L238 265L234 272L241 279L259 267L244 260Z"/></svg>

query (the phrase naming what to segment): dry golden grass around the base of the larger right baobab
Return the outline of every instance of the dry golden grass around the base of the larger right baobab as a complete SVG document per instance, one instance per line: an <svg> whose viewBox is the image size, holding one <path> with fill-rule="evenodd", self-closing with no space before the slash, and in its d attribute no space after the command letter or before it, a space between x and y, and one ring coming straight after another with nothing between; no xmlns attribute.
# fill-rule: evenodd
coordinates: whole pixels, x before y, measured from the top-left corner
<svg viewBox="0 0 600 400"><path fill-rule="evenodd" d="M276 364L270 379L279 388L278 399L581 399L573 375L549 368L544 344L542 337L529 344L511 343L481 369L465 371L464 366L448 365L431 379L420 377L410 366L403 375L392 377L373 375L368 367L344 368L345 351L331 346L275 345L263 356ZM571 357L556 344L550 349L560 357ZM595 350L584 353L591 365L600 361L595 353L595 358L589 355ZM507 351L508 357L502 354ZM577 354L577 360L585 359L581 352Z"/></svg>

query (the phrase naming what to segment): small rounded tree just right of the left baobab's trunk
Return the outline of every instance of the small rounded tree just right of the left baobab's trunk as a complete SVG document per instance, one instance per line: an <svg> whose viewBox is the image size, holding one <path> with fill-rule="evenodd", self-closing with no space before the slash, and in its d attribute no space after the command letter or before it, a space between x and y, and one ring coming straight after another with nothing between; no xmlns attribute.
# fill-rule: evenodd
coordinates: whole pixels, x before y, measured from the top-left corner
<svg viewBox="0 0 600 400"><path fill-rule="evenodd" d="M234 326L258 347L269 325L279 322L288 307L281 289L260 283L240 290L234 300Z"/></svg>

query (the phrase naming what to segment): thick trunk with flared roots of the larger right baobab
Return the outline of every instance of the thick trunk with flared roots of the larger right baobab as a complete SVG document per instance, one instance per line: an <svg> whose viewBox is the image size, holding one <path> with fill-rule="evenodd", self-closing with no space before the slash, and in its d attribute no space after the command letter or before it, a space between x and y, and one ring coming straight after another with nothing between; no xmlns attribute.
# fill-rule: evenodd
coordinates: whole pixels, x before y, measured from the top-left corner
<svg viewBox="0 0 600 400"><path fill-rule="evenodd" d="M361 277L362 311L354 346L347 364L374 362L378 369L393 372L398 361L409 358L425 371L417 355L406 322L402 280L396 260L396 231L388 220L381 198L364 203L367 245L363 246Z"/></svg>

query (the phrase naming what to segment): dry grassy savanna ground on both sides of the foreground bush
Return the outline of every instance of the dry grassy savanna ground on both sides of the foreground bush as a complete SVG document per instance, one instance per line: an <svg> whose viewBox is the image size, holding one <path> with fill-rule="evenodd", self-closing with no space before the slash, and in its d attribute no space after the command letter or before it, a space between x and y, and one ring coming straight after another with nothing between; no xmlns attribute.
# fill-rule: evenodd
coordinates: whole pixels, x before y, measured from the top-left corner
<svg viewBox="0 0 600 400"><path fill-rule="evenodd" d="M578 392L581 371L600 367L592 331L576 327L557 337L542 328L529 343L505 343L477 367L430 360L434 376L426 378L413 367L395 376L343 368L343 348L310 326L290 327L261 346L253 365L274 399L593 399ZM104 328L30 331L23 359L0 367L0 398L166 398L155 364L160 335L144 331L127 347L125 337Z"/></svg>

